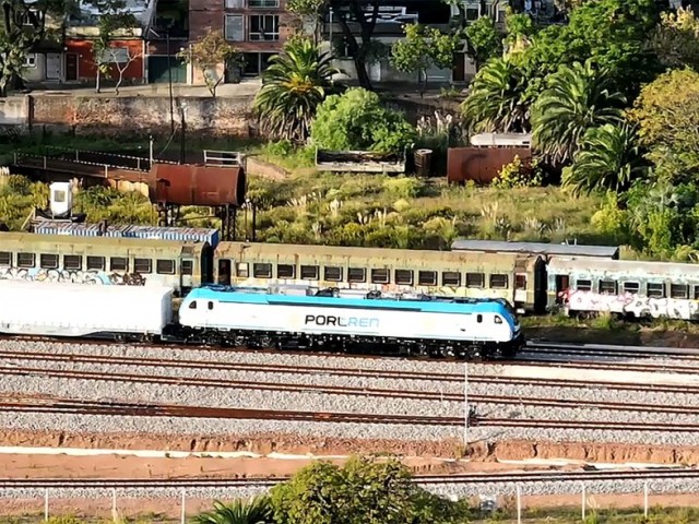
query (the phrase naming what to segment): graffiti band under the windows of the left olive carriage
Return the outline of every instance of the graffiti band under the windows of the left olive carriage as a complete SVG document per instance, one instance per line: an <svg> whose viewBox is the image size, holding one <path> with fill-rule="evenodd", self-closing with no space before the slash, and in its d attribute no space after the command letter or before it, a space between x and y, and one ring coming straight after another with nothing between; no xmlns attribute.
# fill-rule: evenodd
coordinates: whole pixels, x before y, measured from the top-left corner
<svg viewBox="0 0 699 524"><path fill-rule="evenodd" d="M25 267L0 267L0 281L59 282L64 284L92 284L102 286L145 285L145 278L138 273Z"/></svg>

